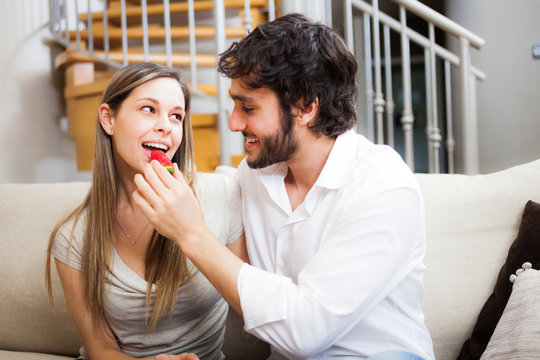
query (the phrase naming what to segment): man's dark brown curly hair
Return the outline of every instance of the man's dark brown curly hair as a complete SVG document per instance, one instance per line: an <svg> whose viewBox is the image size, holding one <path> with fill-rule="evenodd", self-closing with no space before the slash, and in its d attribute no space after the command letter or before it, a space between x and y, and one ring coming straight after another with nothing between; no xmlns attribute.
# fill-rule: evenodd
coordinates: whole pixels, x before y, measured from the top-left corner
<svg viewBox="0 0 540 360"><path fill-rule="evenodd" d="M357 63L341 37L301 14L261 24L223 52L218 70L251 88L268 88L292 119L291 106L319 99L309 128L319 136L337 136L356 123Z"/></svg>

